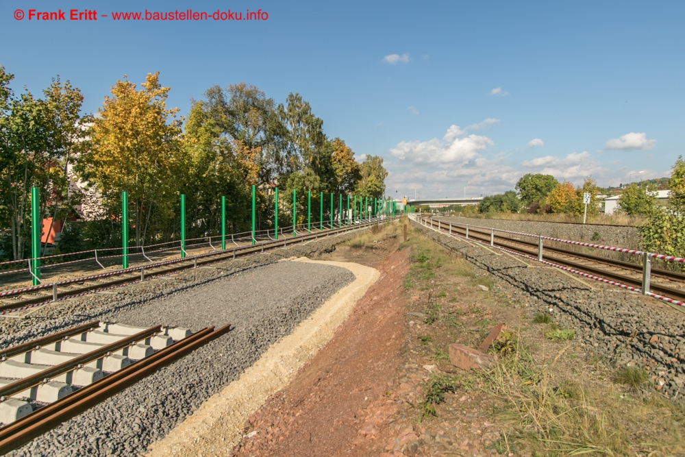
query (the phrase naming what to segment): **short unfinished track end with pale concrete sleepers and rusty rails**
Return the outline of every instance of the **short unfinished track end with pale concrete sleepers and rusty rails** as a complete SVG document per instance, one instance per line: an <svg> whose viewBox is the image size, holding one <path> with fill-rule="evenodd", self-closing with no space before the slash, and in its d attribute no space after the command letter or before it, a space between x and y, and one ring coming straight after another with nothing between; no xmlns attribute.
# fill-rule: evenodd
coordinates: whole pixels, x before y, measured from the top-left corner
<svg viewBox="0 0 685 457"><path fill-rule="evenodd" d="M0 454L230 330L90 322L0 351Z"/></svg>

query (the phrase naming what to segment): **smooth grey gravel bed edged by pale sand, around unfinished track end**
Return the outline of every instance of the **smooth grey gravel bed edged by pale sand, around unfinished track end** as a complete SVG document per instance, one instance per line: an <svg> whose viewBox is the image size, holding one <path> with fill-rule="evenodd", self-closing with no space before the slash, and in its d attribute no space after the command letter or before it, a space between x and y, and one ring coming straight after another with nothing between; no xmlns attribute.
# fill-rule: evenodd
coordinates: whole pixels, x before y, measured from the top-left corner
<svg viewBox="0 0 685 457"><path fill-rule="evenodd" d="M277 262L104 314L145 327L175 323L197 331L232 323L234 330L9 455L145 452L353 279L339 267Z"/></svg>

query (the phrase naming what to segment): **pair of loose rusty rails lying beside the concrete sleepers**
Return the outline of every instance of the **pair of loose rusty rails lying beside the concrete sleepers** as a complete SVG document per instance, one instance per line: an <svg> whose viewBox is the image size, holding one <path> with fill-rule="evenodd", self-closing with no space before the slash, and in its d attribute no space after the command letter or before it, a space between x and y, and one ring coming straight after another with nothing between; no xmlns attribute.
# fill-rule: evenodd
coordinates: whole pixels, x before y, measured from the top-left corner
<svg viewBox="0 0 685 457"><path fill-rule="evenodd" d="M175 360L186 356L215 338L219 338L229 330L231 330L231 324L218 330L210 327L195 332L164 349L160 349L147 358L138 360L138 362L107 375L105 378L90 384L90 386L81 388L57 402L39 408L10 425L0 428L0 455L25 445L36 436L52 430L61 423L132 386L158 369L175 362Z"/></svg>

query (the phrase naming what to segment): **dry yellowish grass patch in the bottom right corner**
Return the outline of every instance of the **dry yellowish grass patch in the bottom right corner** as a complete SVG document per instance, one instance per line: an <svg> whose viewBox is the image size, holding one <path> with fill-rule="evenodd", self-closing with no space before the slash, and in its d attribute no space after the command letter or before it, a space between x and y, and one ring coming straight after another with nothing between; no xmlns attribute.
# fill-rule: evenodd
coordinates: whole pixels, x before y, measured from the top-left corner
<svg viewBox="0 0 685 457"><path fill-rule="evenodd" d="M651 393L630 398L613 385L597 390L580 382L559 382L553 367L536 364L521 343L509 354L481 375L486 391L499 399L499 419L510 425L497 445L501 452L653 457L685 453L682 405Z"/></svg>

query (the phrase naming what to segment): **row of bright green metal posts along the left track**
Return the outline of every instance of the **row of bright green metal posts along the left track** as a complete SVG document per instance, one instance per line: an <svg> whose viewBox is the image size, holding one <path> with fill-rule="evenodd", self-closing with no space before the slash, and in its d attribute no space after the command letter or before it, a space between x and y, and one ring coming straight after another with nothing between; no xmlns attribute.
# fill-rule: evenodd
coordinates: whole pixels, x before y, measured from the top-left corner
<svg viewBox="0 0 685 457"><path fill-rule="evenodd" d="M252 245L256 243L256 190L252 186L252 230L251 238ZM343 195L338 195L338 220L339 225L350 225L354 221L360 219L371 219L376 216L391 216L394 217L397 212L397 203L395 201L371 198L371 207L369 207L369 197L358 197L356 195L346 195L347 211L343 213ZM292 201L296 200L296 190L292 190ZM359 206L357 206L359 201ZM40 238L42 233L42 221L40 219L40 196L37 187L31 188L31 256L29 261L29 271L32 275L32 282L34 286L40 284ZM350 208L352 203L352 208ZM330 227L334 226L334 194L331 194L331 220ZM413 211L412 208L410 212ZM275 188L275 217L273 236L278 239L278 188ZM350 212L351 210L351 212ZM358 211L359 210L359 211ZM121 266L127 269L129 262L129 227L128 227L128 194L121 193L121 247L122 260ZM295 227L297 225L297 205L292 205L292 236L296 236ZM316 223L314 223L316 226ZM323 192L319 196L319 230L323 231ZM307 193L307 232L312 232L312 192ZM221 249L226 249L226 197L221 197ZM181 195L181 258L186 257L186 195Z"/></svg>

